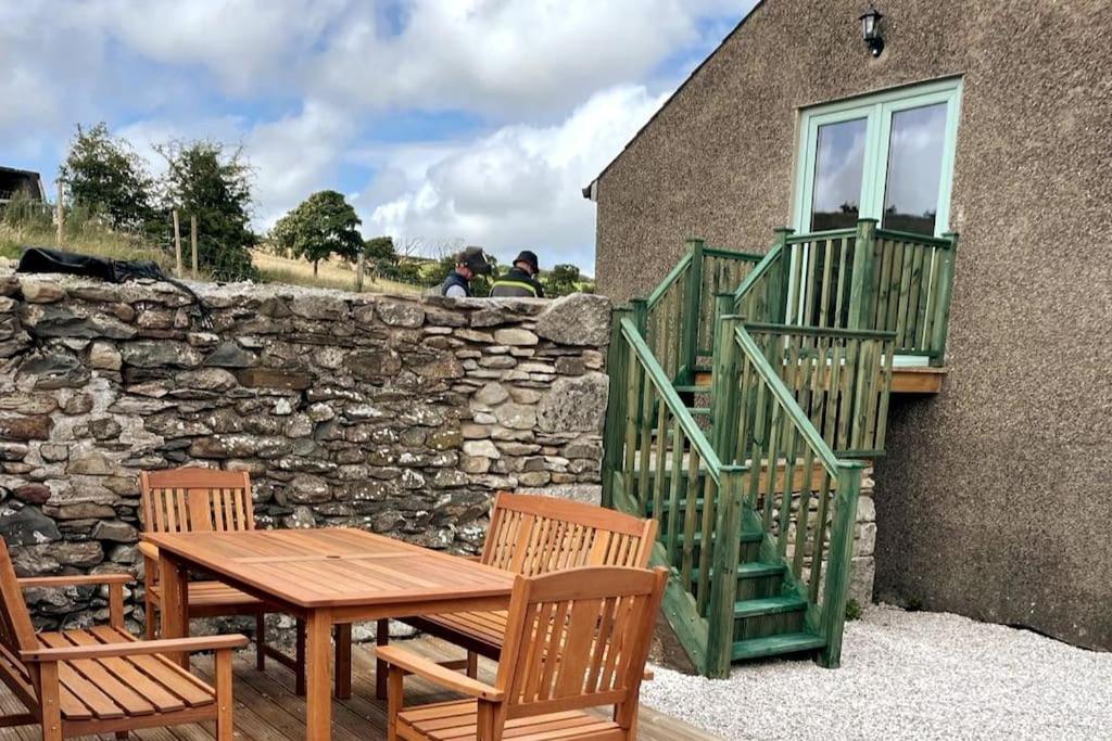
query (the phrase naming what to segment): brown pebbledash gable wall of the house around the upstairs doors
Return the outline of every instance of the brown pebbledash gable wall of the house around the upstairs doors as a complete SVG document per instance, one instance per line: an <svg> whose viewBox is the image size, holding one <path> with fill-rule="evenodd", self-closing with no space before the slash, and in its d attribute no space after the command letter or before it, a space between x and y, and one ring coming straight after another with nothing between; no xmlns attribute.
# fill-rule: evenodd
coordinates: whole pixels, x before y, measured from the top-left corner
<svg viewBox="0 0 1112 741"><path fill-rule="evenodd" d="M600 291L682 240L765 251L798 107L961 74L943 392L896 399L876 467L885 600L1112 649L1112 3L768 0L598 182Z"/></svg>

